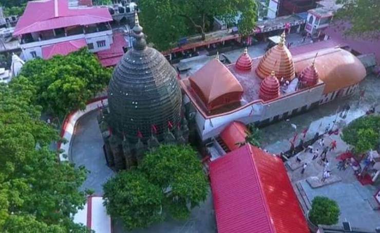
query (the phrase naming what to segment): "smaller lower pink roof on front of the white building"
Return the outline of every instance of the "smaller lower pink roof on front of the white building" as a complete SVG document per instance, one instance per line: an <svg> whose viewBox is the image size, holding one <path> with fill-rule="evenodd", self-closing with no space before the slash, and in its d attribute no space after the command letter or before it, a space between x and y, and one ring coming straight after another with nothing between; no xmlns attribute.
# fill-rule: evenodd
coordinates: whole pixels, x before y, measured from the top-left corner
<svg viewBox="0 0 380 233"><path fill-rule="evenodd" d="M85 39L77 39L42 47L42 57L49 59L56 54L67 55L87 46Z"/></svg>

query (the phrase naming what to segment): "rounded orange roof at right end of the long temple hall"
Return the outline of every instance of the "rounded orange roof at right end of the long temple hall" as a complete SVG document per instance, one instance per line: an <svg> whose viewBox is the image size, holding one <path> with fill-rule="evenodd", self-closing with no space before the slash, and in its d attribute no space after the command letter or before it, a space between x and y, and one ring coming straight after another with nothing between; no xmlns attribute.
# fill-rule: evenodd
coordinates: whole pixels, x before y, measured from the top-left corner
<svg viewBox="0 0 380 233"><path fill-rule="evenodd" d="M296 73L309 66L314 57L315 52L295 57ZM319 51L314 66L318 70L319 79L325 82L325 94L359 83L367 75L362 62L352 53L340 48Z"/></svg>

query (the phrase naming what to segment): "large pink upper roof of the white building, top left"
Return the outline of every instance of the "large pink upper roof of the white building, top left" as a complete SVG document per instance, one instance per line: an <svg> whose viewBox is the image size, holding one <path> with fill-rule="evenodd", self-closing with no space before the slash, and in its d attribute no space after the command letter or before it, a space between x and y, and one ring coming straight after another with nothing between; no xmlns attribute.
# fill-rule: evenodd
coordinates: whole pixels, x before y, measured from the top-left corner
<svg viewBox="0 0 380 233"><path fill-rule="evenodd" d="M30 1L18 19L13 35L111 20L107 8L69 8L67 0Z"/></svg>

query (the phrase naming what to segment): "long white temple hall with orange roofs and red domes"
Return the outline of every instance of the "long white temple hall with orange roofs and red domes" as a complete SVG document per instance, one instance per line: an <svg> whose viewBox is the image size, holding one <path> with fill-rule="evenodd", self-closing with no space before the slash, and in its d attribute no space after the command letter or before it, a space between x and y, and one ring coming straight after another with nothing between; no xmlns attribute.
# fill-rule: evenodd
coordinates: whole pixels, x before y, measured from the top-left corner
<svg viewBox="0 0 380 233"><path fill-rule="evenodd" d="M217 59L180 81L202 141L231 121L264 125L353 94L366 76L362 62L341 48L292 56L285 35L262 57L244 51L236 63Z"/></svg>

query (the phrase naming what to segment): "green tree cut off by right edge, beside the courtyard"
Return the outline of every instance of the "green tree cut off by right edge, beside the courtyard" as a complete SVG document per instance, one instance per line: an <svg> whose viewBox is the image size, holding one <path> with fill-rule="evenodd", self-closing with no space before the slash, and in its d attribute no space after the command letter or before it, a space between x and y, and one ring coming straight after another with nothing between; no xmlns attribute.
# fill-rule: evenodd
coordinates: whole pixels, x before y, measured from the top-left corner
<svg viewBox="0 0 380 233"><path fill-rule="evenodd" d="M379 143L380 116L370 115L352 121L343 129L342 139L355 147L356 153L375 149Z"/></svg>

